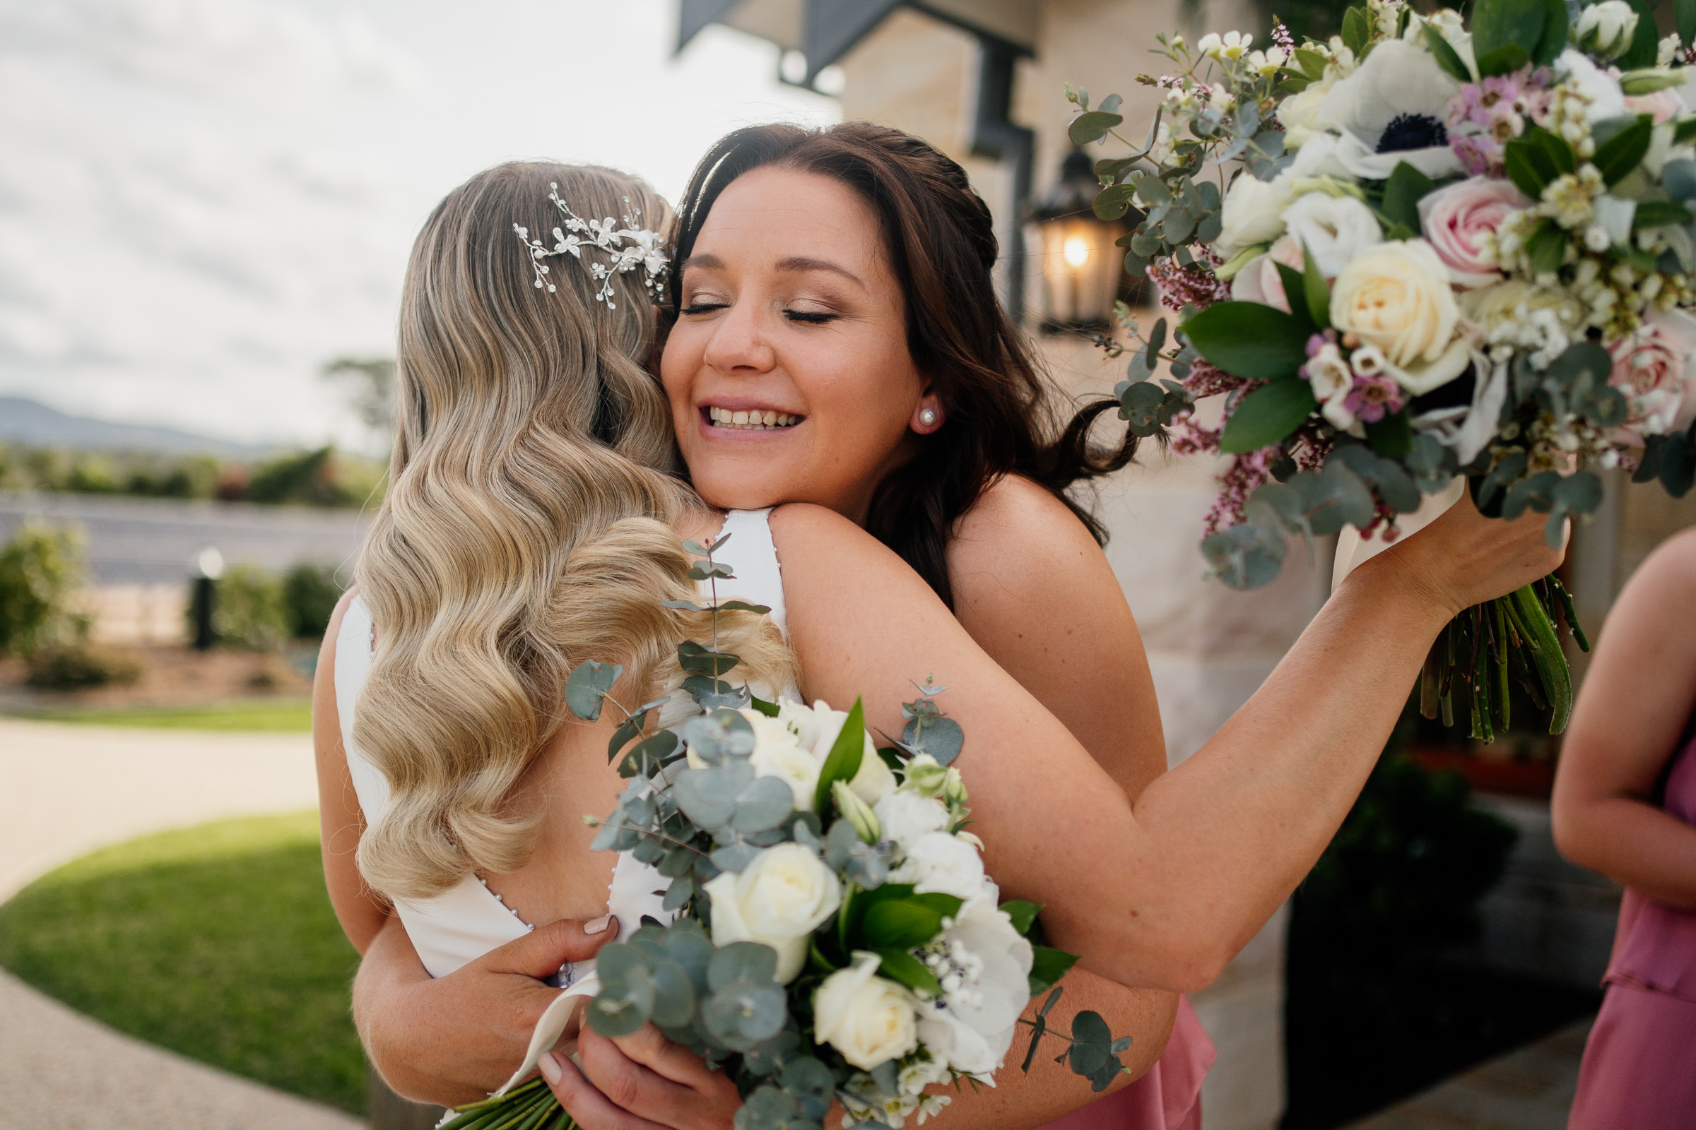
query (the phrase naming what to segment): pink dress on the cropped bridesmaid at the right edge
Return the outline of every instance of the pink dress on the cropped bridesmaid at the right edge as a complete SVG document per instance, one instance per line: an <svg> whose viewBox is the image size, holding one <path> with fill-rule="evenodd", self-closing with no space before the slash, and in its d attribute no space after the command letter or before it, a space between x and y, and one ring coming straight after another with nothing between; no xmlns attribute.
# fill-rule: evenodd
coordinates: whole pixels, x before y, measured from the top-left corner
<svg viewBox="0 0 1696 1130"><path fill-rule="evenodd" d="M1679 751L1662 808L1696 827L1696 740ZM1696 1127L1696 915L1626 888L1569 1130Z"/></svg>

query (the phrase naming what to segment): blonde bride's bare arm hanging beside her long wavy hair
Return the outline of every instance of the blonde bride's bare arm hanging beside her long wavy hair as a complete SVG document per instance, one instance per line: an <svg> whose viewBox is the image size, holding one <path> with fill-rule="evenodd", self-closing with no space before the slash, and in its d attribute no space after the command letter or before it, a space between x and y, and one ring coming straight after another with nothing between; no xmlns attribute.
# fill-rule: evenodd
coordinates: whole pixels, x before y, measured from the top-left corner
<svg viewBox="0 0 1696 1130"><path fill-rule="evenodd" d="M336 918L353 947L361 954L383 928L390 908L360 876L354 852L365 830L360 798L348 774L348 754L341 745L341 715L336 712L336 635L353 601L353 590L343 593L319 647L319 666L312 674L312 752L319 778L319 835L324 854L324 886L336 908Z"/></svg>

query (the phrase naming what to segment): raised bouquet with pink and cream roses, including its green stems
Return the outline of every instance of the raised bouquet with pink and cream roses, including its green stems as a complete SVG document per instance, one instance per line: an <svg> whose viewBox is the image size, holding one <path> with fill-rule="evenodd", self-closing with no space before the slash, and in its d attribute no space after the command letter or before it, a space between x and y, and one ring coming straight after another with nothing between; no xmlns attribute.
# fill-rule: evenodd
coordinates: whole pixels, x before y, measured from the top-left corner
<svg viewBox="0 0 1696 1130"><path fill-rule="evenodd" d="M1121 312L1121 415L1230 457L1202 540L1228 584L1277 576L1291 534L1391 539L1457 474L1487 515L1547 513L1552 546L1601 503L1598 469L1691 488L1696 2L1684 39L1626 0L1572 12L1479 0L1467 24L1367 0L1325 42L1160 37L1177 69L1138 80L1163 102L1096 164L1096 212L1143 210L1126 268L1180 324L1169 346L1165 319L1145 337ZM1116 95L1068 97L1077 144L1118 137ZM1211 396L1218 427L1194 410ZM1513 669L1564 728L1557 613L1577 632L1550 578L1460 617L1426 715L1452 718L1459 681L1491 737Z"/></svg>

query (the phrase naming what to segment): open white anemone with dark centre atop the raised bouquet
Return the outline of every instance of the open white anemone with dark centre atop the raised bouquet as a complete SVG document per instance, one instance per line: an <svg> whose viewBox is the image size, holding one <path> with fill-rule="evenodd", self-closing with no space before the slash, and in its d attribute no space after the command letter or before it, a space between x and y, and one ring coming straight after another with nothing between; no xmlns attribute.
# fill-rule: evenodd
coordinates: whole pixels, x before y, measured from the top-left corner
<svg viewBox="0 0 1696 1130"><path fill-rule="evenodd" d="M1464 171L1443 127L1459 90L1428 51L1386 39L1331 86L1314 120L1342 134L1336 156L1355 176L1386 180L1406 161L1437 180Z"/></svg>

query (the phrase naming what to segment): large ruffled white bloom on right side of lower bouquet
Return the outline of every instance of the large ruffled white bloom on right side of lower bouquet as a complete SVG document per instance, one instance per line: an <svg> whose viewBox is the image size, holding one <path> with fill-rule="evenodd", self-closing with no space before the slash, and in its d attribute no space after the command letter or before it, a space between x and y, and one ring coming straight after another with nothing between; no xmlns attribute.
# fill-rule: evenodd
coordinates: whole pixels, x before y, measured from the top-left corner
<svg viewBox="0 0 1696 1130"><path fill-rule="evenodd" d="M1031 944L1013 928L1013 920L996 906L999 893L989 884L989 896L960 908L960 917L943 933L941 942L958 942L975 959L960 989L919 1016L919 1040L931 1054L946 1059L955 1071L989 1074L1013 1044L1019 1013L1029 1003ZM941 978L958 972L936 971Z"/></svg>

